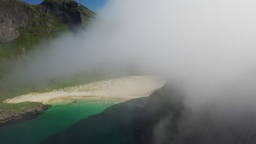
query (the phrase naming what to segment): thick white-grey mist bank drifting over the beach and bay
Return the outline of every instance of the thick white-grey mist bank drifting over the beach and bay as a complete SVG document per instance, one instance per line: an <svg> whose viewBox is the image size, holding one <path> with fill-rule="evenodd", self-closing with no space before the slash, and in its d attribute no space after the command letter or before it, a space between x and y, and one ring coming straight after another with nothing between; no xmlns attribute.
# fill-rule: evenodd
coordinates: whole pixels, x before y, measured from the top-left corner
<svg viewBox="0 0 256 144"><path fill-rule="evenodd" d="M109 0L85 31L39 46L44 50L10 77L40 82L130 67L148 71L178 85L188 109L201 113L183 123L186 135L201 133L191 125L200 126L209 112L207 121L218 125L213 132L223 131L218 142L232 143L230 131L240 135L255 126L255 6L251 0Z"/></svg>

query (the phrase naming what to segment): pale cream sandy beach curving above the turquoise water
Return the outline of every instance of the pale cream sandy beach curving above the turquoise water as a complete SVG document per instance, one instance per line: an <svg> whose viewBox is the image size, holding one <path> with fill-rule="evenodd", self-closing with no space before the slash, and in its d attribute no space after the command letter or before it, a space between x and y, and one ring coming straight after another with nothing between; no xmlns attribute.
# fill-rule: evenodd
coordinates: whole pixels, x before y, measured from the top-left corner
<svg viewBox="0 0 256 144"><path fill-rule="evenodd" d="M70 99L125 101L148 96L161 88L164 84L164 80L157 79L154 76L129 76L56 89L53 92L30 93L7 99L4 102L21 103L25 101L35 101L49 104L65 102Z"/></svg>

